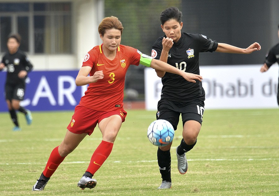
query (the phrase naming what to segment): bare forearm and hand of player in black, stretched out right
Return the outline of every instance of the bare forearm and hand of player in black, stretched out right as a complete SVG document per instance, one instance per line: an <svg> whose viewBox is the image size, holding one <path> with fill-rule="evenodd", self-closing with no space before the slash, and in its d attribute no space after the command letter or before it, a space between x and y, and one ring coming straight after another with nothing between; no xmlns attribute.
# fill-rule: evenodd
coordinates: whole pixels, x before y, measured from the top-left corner
<svg viewBox="0 0 279 196"><path fill-rule="evenodd" d="M235 54L250 54L254 51L261 50L261 46L259 43L255 42L251 44L248 48L238 48L236 46L232 46L225 43L218 43L218 47L216 52L223 53L235 53Z"/></svg>

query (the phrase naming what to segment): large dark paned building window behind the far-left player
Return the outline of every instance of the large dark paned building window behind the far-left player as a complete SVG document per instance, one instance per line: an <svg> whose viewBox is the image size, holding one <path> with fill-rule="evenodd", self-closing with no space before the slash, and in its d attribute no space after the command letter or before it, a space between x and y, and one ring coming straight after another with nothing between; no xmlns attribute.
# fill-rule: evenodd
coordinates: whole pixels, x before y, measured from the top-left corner
<svg viewBox="0 0 279 196"><path fill-rule="evenodd" d="M0 3L0 52L10 33L21 36L30 54L71 54L71 3Z"/></svg>

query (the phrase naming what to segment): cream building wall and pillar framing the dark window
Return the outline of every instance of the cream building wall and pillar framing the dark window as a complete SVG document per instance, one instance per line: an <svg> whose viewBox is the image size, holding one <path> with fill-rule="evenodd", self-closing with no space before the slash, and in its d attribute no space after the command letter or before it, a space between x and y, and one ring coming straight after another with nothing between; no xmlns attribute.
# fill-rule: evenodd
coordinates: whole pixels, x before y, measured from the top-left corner
<svg viewBox="0 0 279 196"><path fill-rule="evenodd" d="M6 0L0 0L5 3ZM41 0L10 0L9 3L42 2ZM81 67L85 54L99 45L98 25L104 17L104 0L47 0L44 2L72 2L73 54L28 54L34 70L74 70ZM19 32L20 33L20 32Z"/></svg>

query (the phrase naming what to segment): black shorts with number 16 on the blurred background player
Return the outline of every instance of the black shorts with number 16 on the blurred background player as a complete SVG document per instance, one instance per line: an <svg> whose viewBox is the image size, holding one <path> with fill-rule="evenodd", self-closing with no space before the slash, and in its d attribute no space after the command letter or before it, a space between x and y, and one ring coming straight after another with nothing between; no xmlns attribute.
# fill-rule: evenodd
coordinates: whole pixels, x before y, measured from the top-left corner
<svg viewBox="0 0 279 196"><path fill-rule="evenodd" d="M5 85L5 98L6 100L20 100L24 98L25 83L7 84Z"/></svg>

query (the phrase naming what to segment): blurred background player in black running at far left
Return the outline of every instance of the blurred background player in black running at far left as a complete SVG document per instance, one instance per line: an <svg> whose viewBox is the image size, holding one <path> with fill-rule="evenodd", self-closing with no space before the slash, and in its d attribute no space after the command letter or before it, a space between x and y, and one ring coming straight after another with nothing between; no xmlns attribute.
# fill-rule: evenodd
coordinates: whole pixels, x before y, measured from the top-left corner
<svg viewBox="0 0 279 196"><path fill-rule="evenodd" d="M20 35L12 34L8 37L8 52L3 56L0 63L0 70L7 67L7 79L5 84L5 98L11 119L15 124L13 131L20 131L16 111L25 115L27 124L32 123L31 112L20 106L20 101L24 98L25 79L28 72L33 68L26 55L19 50Z"/></svg>

